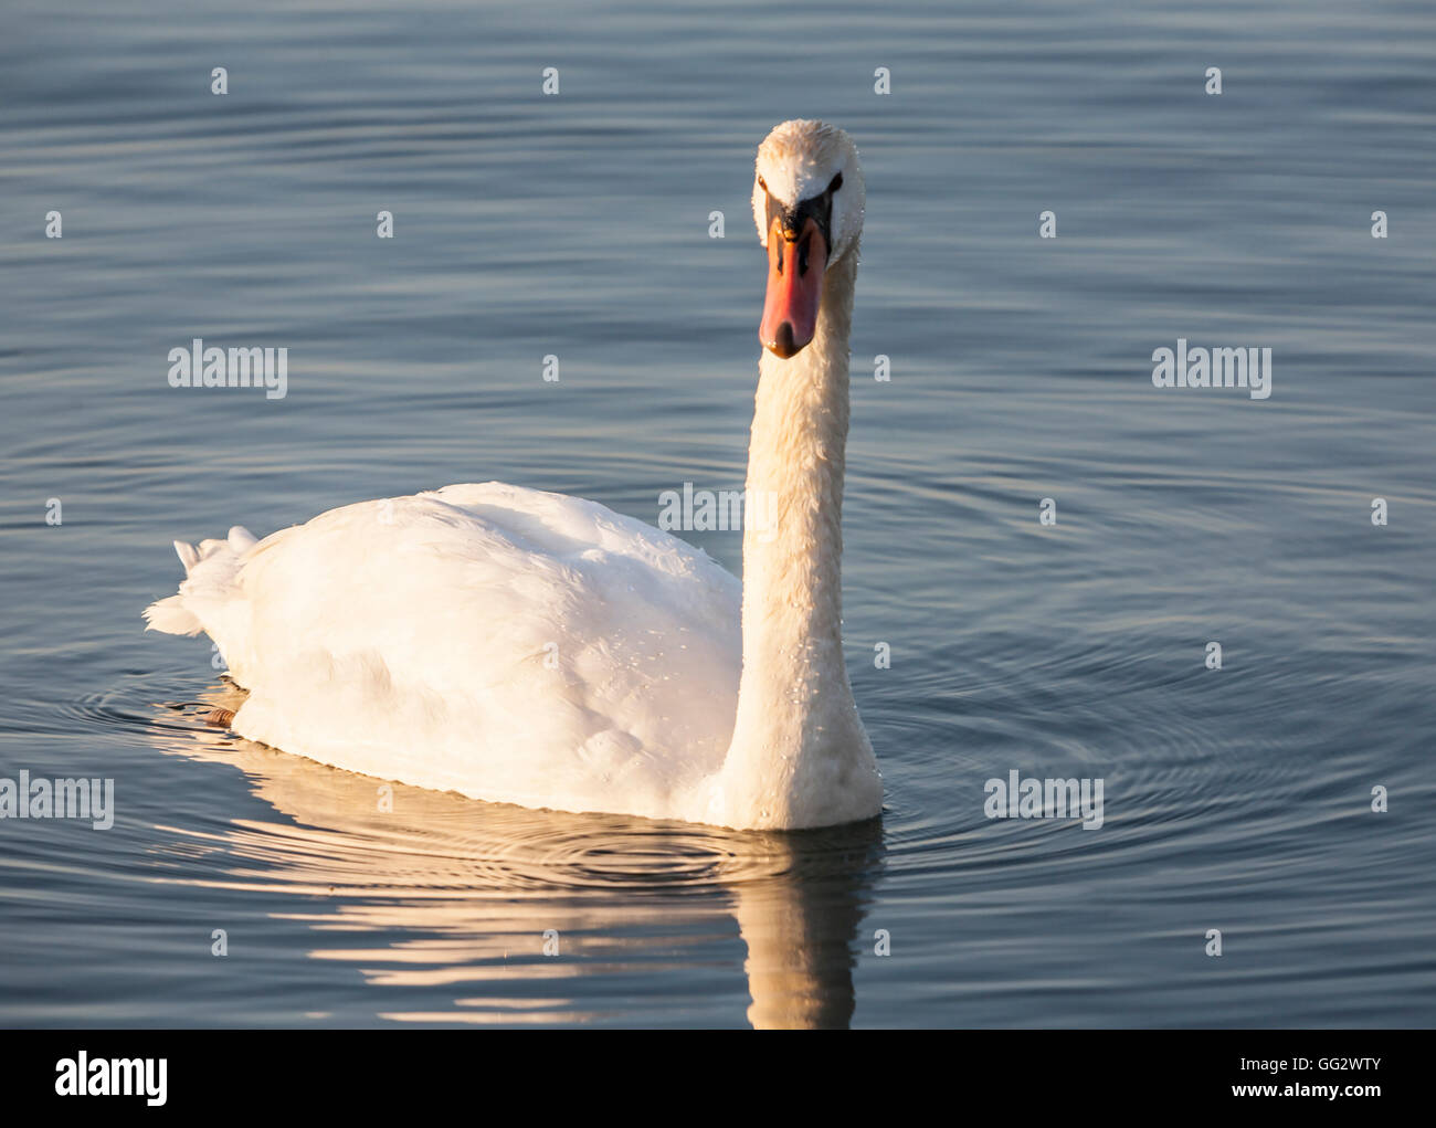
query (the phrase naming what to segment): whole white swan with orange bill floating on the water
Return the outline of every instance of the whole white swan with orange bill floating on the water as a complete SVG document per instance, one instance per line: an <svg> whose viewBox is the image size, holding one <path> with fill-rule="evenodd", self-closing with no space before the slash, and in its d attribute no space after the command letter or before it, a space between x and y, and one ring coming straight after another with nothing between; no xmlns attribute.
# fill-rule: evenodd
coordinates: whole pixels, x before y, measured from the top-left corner
<svg viewBox="0 0 1436 1128"><path fill-rule="evenodd" d="M230 729L472 799L791 831L869 819L882 779L841 639L849 328L864 187L846 132L758 147L768 253L740 582L576 497L484 484L175 542L146 629L208 634Z"/></svg>

